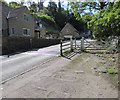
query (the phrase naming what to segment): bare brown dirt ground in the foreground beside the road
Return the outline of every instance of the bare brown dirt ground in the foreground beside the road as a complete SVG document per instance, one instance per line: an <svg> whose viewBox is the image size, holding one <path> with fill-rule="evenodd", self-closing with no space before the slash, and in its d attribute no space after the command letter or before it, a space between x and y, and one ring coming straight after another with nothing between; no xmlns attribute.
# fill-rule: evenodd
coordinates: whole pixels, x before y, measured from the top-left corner
<svg viewBox="0 0 120 100"><path fill-rule="evenodd" d="M118 76L96 72L103 67L100 64L103 61L86 53L71 60L56 57L41 65L41 69L3 84L2 95L4 98L117 98Z"/></svg>

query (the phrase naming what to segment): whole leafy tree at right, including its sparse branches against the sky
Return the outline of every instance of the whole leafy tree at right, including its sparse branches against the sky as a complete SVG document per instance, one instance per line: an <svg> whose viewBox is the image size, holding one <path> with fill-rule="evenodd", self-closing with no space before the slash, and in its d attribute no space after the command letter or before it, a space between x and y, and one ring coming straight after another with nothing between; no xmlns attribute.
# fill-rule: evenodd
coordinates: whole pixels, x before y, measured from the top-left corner
<svg viewBox="0 0 120 100"><path fill-rule="evenodd" d="M71 2L70 11L83 20L95 37L118 35L120 2Z"/></svg>

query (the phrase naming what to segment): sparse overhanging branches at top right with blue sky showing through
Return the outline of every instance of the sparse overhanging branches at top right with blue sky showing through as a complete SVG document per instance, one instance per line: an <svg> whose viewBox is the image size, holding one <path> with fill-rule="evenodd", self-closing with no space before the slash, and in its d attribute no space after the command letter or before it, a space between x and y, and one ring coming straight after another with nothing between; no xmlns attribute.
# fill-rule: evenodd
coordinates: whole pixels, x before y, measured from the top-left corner
<svg viewBox="0 0 120 100"><path fill-rule="evenodd" d="M70 2L70 11L74 13L76 18L79 20L80 15L83 14L94 14L101 9L105 9L108 5L112 6L110 2L101 2L101 0L92 0L92 2Z"/></svg>

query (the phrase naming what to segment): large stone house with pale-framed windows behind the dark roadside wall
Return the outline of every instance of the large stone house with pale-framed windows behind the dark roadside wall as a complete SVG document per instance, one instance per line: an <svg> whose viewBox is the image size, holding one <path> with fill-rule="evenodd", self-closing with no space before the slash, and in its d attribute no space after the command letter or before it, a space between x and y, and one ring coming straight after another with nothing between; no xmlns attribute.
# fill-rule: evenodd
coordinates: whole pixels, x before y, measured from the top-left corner
<svg viewBox="0 0 120 100"><path fill-rule="evenodd" d="M2 37L41 37L42 30L40 23L30 14L26 6L12 8L0 2L2 8ZM41 31L42 30L42 31ZM39 33L39 34L38 34ZM37 34L37 35L36 35Z"/></svg>

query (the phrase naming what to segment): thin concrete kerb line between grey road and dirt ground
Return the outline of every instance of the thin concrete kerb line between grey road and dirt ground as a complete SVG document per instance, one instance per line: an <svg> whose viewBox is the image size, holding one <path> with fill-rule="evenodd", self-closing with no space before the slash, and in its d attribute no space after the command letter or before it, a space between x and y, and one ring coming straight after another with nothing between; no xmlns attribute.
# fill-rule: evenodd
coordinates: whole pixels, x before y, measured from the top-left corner
<svg viewBox="0 0 120 100"><path fill-rule="evenodd" d="M46 63L54 60L55 58L57 58L57 57L54 56L54 57L52 57L52 58L49 58L47 61L43 62L43 63L40 64L40 65L44 65L44 64L46 64ZM18 74L18 75L15 75L15 76L13 76L13 77L11 77L11 78L6 79L6 80L2 81L2 82L0 83L0 85L4 84L4 83L6 83L6 82L8 82L8 81L10 81L10 80L12 80L12 79L20 76L20 75L23 75L23 74L25 74L25 73L27 73L27 72L30 72L30 71L32 71L32 70L34 70L34 69L36 69L36 68L39 68L40 65L34 66L34 67L32 67L32 68L30 68L30 69L28 69L28 70L25 70L25 71L21 72L21 73Z"/></svg>

